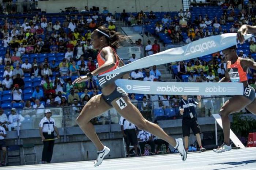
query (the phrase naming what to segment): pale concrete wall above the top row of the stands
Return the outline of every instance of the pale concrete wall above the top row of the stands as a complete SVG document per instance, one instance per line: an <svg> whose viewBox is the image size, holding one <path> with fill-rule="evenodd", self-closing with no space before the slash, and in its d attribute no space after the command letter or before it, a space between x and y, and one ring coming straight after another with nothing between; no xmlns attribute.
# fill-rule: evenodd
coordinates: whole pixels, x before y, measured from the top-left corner
<svg viewBox="0 0 256 170"><path fill-rule="evenodd" d="M60 12L65 7L76 7L79 11L88 6L99 7L100 13L103 7L107 7L109 12L144 12L149 11L179 11L182 9L182 1L177 0L56 0L56 1L38 1L38 8L47 13Z"/></svg>

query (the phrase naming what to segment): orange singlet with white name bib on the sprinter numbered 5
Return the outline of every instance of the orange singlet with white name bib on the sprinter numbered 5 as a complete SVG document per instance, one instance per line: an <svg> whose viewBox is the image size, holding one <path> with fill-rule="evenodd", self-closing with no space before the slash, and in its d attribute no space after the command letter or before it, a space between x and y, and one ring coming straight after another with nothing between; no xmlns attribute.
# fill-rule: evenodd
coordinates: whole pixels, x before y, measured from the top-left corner
<svg viewBox="0 0 256 170"><path fill-rule="evenodd" d="M240 61L241 57L238 57L234 64L231 64L231 61L227 63L227 71L229 72L231 82L247 81L247 72L243 70Z"/></svg>

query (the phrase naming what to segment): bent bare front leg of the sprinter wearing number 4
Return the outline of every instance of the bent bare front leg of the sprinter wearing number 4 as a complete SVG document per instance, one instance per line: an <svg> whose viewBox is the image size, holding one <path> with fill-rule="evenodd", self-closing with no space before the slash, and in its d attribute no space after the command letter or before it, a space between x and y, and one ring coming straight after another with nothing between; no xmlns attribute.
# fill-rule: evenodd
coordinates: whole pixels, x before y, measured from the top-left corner
<svg viewBox="0 0 256 170"><path fill-rule="evenodd" d="M84 134L86 134L86 136L94 143L98 151L103 150L104 146L99 140L94 126L90 120L112 108L102 97L103 96L99 94L91 98L83 107L79 116L76 118L79 127L82 129Z"/></svg>

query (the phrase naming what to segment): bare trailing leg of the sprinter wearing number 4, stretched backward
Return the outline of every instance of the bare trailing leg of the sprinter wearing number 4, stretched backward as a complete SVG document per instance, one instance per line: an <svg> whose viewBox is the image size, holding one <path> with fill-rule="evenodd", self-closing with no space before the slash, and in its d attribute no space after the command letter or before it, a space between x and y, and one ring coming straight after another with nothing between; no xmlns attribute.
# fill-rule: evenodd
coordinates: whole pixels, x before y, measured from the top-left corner
<svg viewBox="0 0 256 170"><path fill-rule="evenodd" d="M128 97L122 97L125 101L125 107L121 109L116 101L119 99L112 101L113 107L117 110L117 112L123 116L129 122L135 124L138 128L150 132L154 136L157 136L166 142L170 143L173 147L176 146L176 141L171 136L167 135L165 131L162 130L157 124L151 123L150 121L146 120L138 108L136 108L130 101Z"/></svg>

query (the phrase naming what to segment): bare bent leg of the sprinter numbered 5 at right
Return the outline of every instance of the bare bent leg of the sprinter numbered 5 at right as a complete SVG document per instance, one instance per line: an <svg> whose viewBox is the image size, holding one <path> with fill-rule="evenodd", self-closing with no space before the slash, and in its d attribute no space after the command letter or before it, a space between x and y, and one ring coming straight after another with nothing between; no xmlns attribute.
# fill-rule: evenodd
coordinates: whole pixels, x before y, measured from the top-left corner
<svg viewBox="0 0 256 170"><path fill-rule="evenodd" d="M224 134L224 142L227 145L230 145L230 120L229 114L235 113L243 109L246 105L251 103L251 100L244 96L233 96L221 107L219 114L221 115L222 126L223 126L223 134Z"/></svg>

